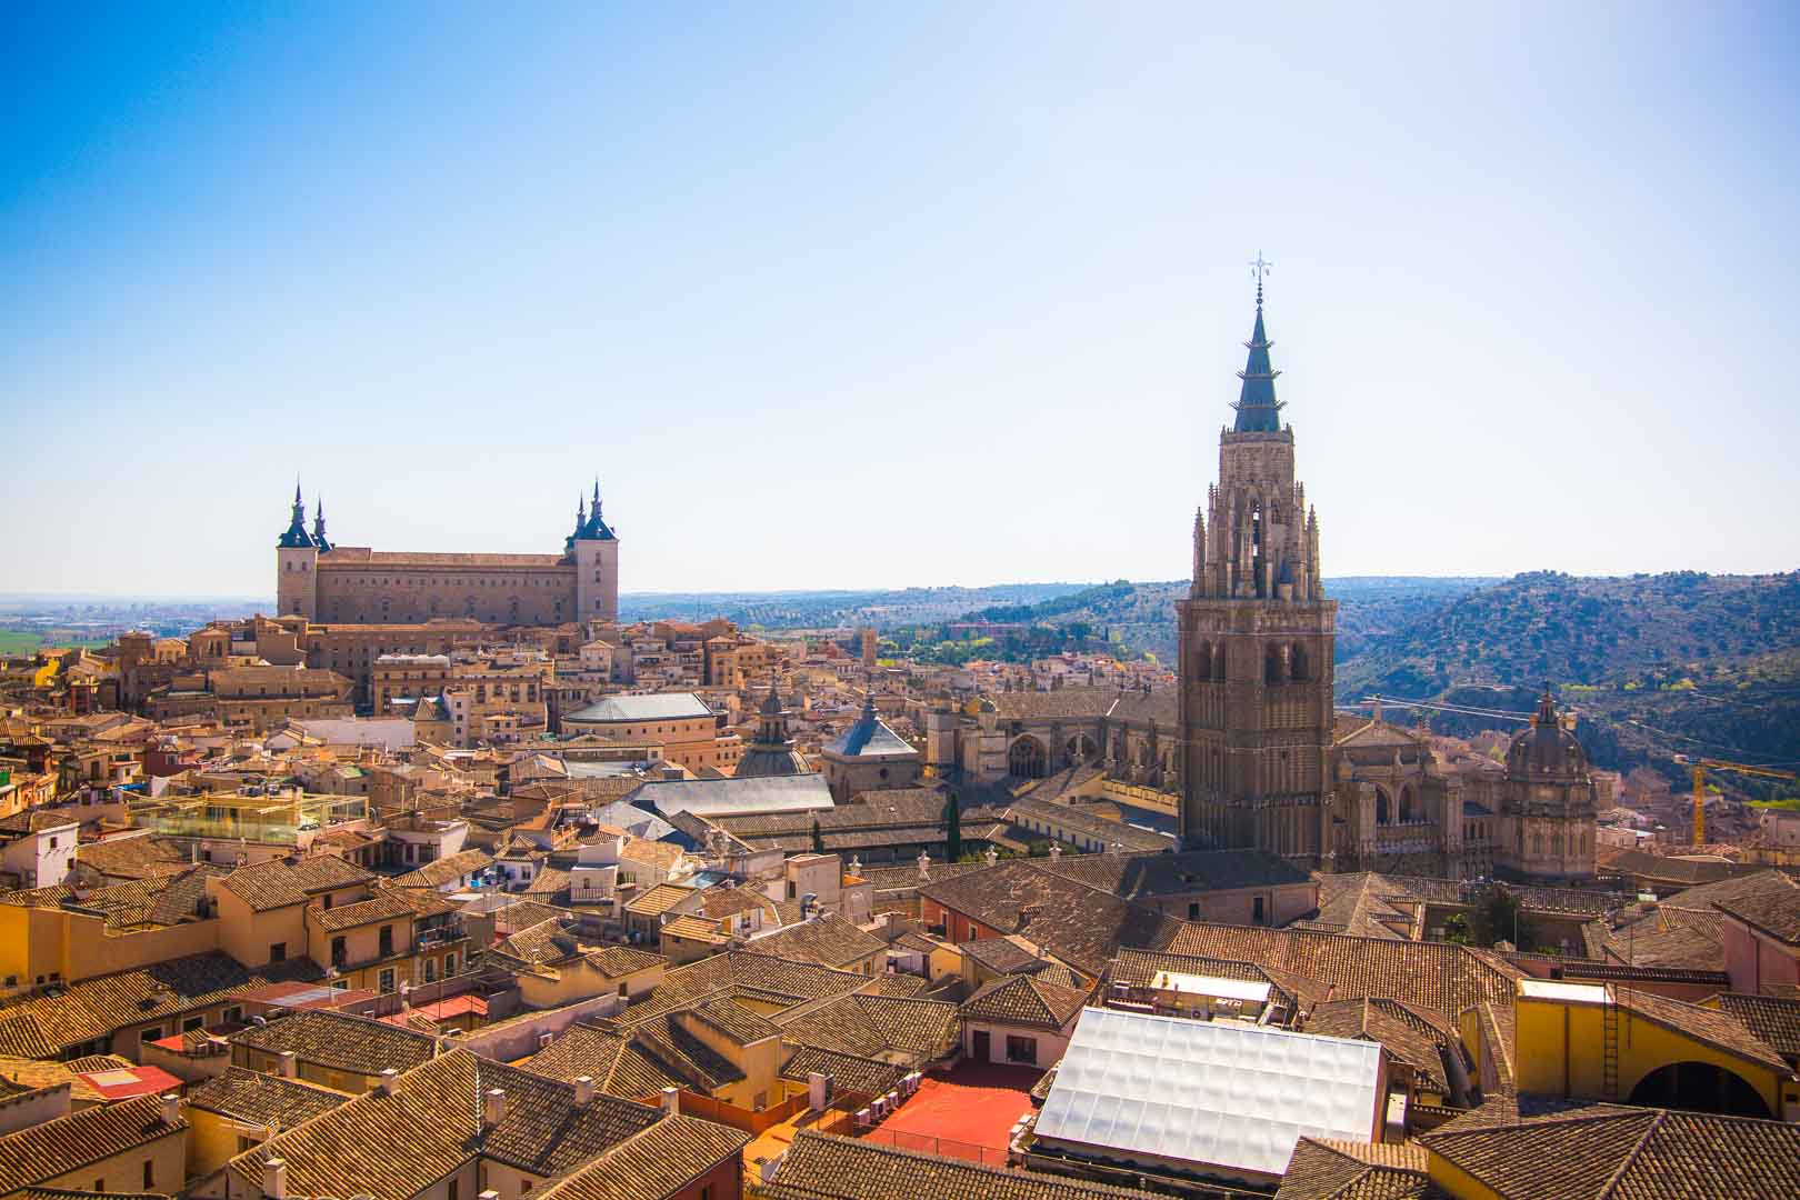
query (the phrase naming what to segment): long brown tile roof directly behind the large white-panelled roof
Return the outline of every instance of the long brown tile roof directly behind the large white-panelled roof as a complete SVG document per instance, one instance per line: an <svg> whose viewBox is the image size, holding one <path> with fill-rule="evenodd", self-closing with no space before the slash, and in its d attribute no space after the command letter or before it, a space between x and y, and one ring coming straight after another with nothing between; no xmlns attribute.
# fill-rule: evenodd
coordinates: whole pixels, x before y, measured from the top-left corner
<svg viewBox="0 0 1800 1200"><path fill-rule="evenodd" d="M1330 984L1334 997L1393 997L1453 1016L1489 999L1512 1006L1517 968L1451 943L1382 941L1348 934L1186 923L1175 954L1240 959Z"/></svg>

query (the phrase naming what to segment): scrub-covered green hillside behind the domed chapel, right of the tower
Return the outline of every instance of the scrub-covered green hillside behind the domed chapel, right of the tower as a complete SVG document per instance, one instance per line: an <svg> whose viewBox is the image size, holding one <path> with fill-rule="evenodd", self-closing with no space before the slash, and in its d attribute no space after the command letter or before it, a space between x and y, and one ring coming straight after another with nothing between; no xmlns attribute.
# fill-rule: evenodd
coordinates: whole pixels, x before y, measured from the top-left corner
<svg viewBox="0 0 1800 1200"><path fill-rule="evenodd" d="M1602 766L1681 783L1676 754L1800 759L1800 574L1584 579L1526 574L1481 588L1361 653L1339 646L1341 702L1372 693L1528 711L1550 685ZM1433 712L1433 729L1501 725ZM1746 795L1791 786L1733 781Z"/></svg>

